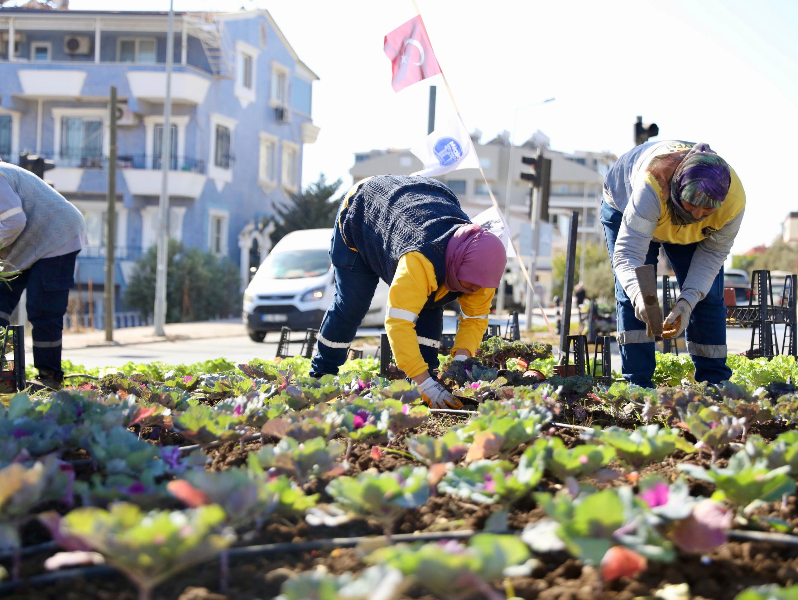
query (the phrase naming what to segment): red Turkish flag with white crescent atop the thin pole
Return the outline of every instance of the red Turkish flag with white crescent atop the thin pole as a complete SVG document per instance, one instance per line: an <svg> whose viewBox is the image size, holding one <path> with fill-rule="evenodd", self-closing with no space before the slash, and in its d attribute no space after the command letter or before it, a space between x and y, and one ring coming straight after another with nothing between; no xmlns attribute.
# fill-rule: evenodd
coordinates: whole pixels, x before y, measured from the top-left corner
<svg viewBox="0 0 798 600"><path fill-rule="evenodd" d="M394 92L440 73L420 14L386 35L382 49L391 61Z"/></svg>

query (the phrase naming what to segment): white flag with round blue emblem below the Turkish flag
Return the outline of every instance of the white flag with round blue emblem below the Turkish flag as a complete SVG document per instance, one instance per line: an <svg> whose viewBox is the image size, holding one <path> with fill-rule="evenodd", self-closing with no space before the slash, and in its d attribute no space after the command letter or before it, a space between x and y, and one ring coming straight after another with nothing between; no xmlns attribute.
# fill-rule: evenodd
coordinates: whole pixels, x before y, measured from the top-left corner
<svg viewBox="0 0 798 600"><path fill-rule="evenodd" d="M410 148L424 168L413 175L437 177L460 168L480 168L471 136L460 117L453 115L427 136L425 144Z"/></svg>

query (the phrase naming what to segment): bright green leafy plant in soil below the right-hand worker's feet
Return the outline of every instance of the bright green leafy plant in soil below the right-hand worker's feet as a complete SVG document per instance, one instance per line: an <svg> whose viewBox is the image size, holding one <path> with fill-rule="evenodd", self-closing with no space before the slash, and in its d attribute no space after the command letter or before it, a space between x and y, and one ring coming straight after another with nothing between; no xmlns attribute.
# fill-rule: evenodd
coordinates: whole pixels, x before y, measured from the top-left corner
<svg viewBox="0 0 798 600"><path fill-rule="evenodd" d="M619 427L594 428L592 440L615 448L618 461L629 471L638 471L646 464L661 462L677 448L694 452L693 444L679 436L678 430L661 428L658 424L628 431Z"/></svg>

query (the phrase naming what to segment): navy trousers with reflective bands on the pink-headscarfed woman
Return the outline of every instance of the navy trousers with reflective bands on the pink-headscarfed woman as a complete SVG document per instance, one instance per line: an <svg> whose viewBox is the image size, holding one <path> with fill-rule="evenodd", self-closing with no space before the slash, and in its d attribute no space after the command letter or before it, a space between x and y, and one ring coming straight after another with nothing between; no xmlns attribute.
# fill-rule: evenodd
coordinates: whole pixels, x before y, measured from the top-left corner
<svg viewBox="0 0 798 600"><path fill-rule="evenodd" d="M311 377L338 373L338 367L346 361L346 354L358 333L365 314L369 311L379 276L362 259L359 252L346 247L338 225L335 226L330 245L330 259L335 273L335 298L324 314L318 332L318 353L310 363ZM438 349L444 328L444 310L429 308L421 310L416 322L421 356L429 365L429 372L438 366ZM429 345L437 342L437 346Z"/></svg>

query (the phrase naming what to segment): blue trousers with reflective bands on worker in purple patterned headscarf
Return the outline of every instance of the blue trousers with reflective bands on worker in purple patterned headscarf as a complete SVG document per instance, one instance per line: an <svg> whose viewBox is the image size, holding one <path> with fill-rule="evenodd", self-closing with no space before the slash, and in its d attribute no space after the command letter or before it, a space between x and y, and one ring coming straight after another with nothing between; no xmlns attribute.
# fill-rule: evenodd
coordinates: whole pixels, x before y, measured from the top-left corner
<svg viewBox="0 0 798 600"><path fill-rule="evenodd" d="M623 215L606 202L601 205L601 222L606 234L610 259ZM662 248L674 267L676 280L683 286L690 261L698 243L662 243ZM660 243L652 241L646 254L646 264L657 266ZM634 385L652 387L654 375L654 341L646 336L646 324L634 316L634 306L626 291L615 278L615 300L618 302L618 345L621 349L621 372ZM665 315L667 316L667 315ZM687 326L687 350L693 358L696 381L720 383L732 376L726 366L726 307L723 302L723 267L713 281L705 298L697 302Z"/></svg>

